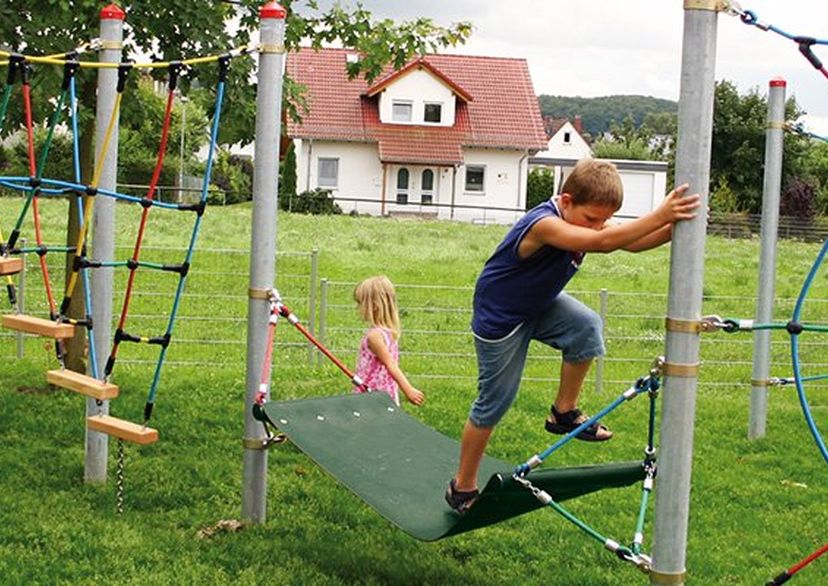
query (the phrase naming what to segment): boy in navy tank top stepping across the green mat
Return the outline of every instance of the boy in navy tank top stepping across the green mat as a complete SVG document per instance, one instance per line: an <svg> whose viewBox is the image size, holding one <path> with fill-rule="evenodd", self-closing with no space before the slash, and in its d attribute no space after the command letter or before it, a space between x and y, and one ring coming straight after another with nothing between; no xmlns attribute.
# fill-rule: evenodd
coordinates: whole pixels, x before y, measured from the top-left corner
<svg viewBox="0 0 828 586"><path fill-rule="evenodd" d="M494 426L520 385L530 340L561 350L558 394L546 419L550 433L566 434L589 416L577 408L592 359L604 353L601 319L563 292L587 252L641 252L670 240L672 226L695 216L699 195L672 191L652 212L606 226L623 202L623 185L612 163L584 159L566 179L561 195L523 216L486 261L474 292L472 332L477 353L477 399L460 442L460 463L446 501L466 512L478 496L477 472ZM612 437L598 423L578 439Z"/></svg>

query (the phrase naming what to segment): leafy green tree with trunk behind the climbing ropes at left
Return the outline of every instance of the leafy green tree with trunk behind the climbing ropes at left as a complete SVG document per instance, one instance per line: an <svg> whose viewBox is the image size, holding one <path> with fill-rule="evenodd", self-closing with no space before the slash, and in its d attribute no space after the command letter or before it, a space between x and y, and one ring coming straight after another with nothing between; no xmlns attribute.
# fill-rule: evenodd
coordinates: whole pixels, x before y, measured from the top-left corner
<svg viewBox="0 0 828 586"><path fill-rule="evenodd" d="M180 3L168 0L146 0L126 7L124 47L127 55L143 54L142 60L178 60L197 55L220 54L234 46L249 43L251 32L258 28L260 1ZM414 54L437 51L440 48L465 42L471 33L468 23L456 23L449 27L435 25L428 18L396 23L385 19L375 21L372 15L357 7L346 10L335 5L327 11L319 9L315 1L302 5L303 12L293 10L299 5L295 0L283 0L282 6L289 12L285 30L285 48L295 50L303 43L320 47L329 43L341 43L363 54L363 59L348 64L348 73L373 79L387 64L400 67ZM0 3L0 39L6 49L27 54L62 54L98 36L98 0L6 0ZM236 26L231 26L231 22ZM48 23L48 26L46 26ZM47 32L44 32L47 31ZM250 142L254 136L255 86L252 83L251 59L235 59L230 68L226 87L226 107L234 116L223 122L221 141L225 143ZM154 75L164 75L154 70ZM40 96L58 93L62 73L53 66L36 67L32 73L32 85ZM180 85L187 93L198 80L202 87L215 87L217 69L198 67L185 75ZM131 76L134 80L135 76ZM95 75L89 70L78 77L78 100L83 118L81 125L80 154L83 176L91 176L92 138L94 136ZM133 82L134 83L134 82ZM286 80L287 107L292 115L301 113L301 89ZM205 96L204 109L210 113L212 104ZM34 118L42 122L49 114L48 98L35 100ZM17 118L7 121L6 128L20 124ZM16 124L15 124L16 123ZM2 137L0 137L2 138ZM70 209L70 218L77 217L77 210ZM76 240L77 226L67 223L67 242ZM67 259L71 263L71 259ZM67 271L69 273L70 271ZM81 317L82 292L73 296L69 314ZM83 333L79 332L70 345L67 366L83 371Z"/></svg>

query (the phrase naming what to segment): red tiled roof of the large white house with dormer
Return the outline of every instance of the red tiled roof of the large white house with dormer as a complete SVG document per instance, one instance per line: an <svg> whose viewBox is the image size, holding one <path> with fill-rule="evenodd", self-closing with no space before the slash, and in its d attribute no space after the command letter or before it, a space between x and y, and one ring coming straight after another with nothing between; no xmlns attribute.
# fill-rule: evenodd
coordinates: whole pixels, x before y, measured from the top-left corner
<svg viewBox="0 0 828 586"><path fill-rule="evenodd" d="M292 138L379 143L383 162L459 164L463 147L546 148L547 138L529 69L523 59L426 55L406 67L426 62L452 91L462 89L472 101L458 100L452 127L382 124L379 91L396 78L389 67L373 86L348 80L347 49L301 49L289 53L287 72L308 88L310 111L301 123L288 121ZM400 72L396 72L397 75Z"/></svg>

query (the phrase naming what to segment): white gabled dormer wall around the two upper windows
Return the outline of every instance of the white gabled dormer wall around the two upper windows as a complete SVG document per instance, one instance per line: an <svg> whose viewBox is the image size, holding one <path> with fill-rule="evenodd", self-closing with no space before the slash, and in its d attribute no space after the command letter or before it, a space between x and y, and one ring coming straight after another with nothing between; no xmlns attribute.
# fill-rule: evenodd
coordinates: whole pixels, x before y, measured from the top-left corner
<svg viewBox="0 0 828 586"><path fill-rule="evenodd" d="M452 126L454 124L454 92L426 70L411 71L409 74L394 80L394 83L390 84L380 94L380 121L388 124L405 124L395 122L391 116L391 105L394 100L412 102L411 122L409 124L428 124L429 126ZM423 121L426 103L441 104L441 120L439 123Z"/></svg>

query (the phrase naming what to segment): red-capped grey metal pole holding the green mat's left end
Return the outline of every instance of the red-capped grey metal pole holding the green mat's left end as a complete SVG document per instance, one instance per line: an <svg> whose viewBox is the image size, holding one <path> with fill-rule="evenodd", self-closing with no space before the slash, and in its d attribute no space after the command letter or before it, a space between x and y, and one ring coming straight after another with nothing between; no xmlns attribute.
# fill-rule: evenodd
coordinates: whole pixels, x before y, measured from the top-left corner
<svg viewBox="0 0 828 586"><path fill-rule="evenodd" d="M253 417L264 363L270 305L267 291L273 287L276 267L276 212L279 193L279 137L282 108L285 17L276 2L259 10L258 91L256 95L256 148L253 170L253 227L250 243L250 293L247 303L247 395L244 403L244 471L242 517L263 523L267 501L266 437ZM268 398L269 398L268 391Z"/></svg>

